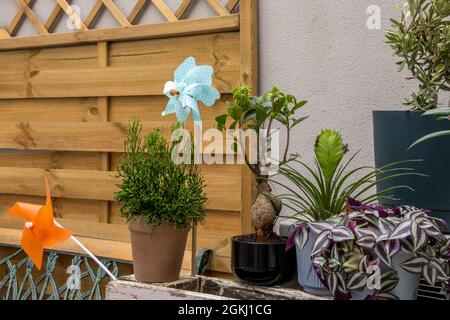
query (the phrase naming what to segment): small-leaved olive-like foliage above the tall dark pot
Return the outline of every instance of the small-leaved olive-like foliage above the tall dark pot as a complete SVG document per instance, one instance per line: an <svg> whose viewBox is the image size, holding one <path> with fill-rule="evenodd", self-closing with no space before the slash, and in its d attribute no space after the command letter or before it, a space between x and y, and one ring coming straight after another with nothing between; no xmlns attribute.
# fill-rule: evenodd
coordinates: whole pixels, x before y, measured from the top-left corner
<svg viewBox="0 0 450 320"><path fill-rule="evenodd" d="M450 91L450 1L407 0L400 20L391 19L387 43L400 58L419 89L406 105L427 111L438 106L439 92Z"/></svg>

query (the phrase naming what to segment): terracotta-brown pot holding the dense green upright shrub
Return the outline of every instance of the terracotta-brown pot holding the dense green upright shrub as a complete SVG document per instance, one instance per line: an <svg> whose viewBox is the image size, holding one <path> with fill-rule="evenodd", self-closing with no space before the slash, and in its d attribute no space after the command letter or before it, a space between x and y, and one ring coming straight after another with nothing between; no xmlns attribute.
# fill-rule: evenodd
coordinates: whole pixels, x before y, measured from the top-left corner
<svg viewBox="0 0 450 320"><path fill-rule="evenodd" d="M147 283L177 281L189 228L176 230L168 223L153 228L144 222L133 222L128 227L136 280Z"/></svg>

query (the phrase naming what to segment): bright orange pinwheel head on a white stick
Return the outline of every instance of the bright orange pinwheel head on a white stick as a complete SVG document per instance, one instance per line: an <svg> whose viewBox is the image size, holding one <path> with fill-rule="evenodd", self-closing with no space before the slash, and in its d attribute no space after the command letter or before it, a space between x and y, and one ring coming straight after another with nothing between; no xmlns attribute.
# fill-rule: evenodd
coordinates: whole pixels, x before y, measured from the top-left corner
<svg viewBox="0 0 450 320"><path fill-rule="evenodd" d="M41 270L44 249L54 248L68 240L73 233L55 224L50 187L45 178L45 206L17 202L8 212L9 216L23 218L20 246Z"/></svg>

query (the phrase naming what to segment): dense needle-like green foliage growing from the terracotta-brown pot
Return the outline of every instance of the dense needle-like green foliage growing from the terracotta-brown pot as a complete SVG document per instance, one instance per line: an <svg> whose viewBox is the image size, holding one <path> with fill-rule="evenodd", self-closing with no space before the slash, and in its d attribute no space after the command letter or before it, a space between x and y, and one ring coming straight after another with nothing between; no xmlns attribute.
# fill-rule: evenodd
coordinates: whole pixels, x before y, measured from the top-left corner
<svg viewBox="0 0 450 320"><path fill-rule="evenodd" d="M128 222L142 221L155 227L167 222L185 228L205 217L205 183L195 164L177 164L159 129L142 137L142 124L130 122L125 154L117 169L120 191L114 198Z"/></svg>

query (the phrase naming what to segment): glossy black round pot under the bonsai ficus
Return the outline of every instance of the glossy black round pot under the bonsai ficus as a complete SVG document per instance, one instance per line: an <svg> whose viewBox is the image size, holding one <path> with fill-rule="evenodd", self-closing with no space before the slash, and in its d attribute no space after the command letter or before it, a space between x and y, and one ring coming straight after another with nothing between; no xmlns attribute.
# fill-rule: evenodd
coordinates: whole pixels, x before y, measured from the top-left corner
<svg viewBox="0 0 450 320"><path fill-rule="evenodd" d="M248 236L232 239L231 267L242 282L273 286L291 280L295 274L295 250L286 252L286 238L278 243L255 243Z"/></svg>

